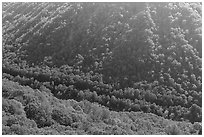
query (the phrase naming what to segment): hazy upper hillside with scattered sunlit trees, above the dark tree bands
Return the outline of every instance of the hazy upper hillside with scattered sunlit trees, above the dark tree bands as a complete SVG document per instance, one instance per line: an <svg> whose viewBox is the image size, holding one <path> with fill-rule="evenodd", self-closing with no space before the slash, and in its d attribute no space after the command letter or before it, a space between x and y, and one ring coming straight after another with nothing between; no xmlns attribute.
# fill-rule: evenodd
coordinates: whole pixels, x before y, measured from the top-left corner
<svg viewBox="0 0 204 137"><path fill-rule="evenodd" d="M82 66L124 86L166 77L188 84L191 74L201 80L201 25L199 3L8 3L3 48L15 54L3 55Z"/></svg>

